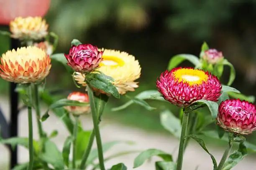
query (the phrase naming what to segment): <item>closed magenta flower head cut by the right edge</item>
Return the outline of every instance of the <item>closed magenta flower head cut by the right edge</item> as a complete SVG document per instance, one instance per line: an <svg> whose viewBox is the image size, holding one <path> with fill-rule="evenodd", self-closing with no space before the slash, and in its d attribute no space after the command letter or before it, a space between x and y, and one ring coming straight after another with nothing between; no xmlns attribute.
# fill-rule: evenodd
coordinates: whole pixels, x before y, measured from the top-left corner
<svg viewBox="0 0 256 170"><path fill-rule="evenodd" d="M256 130L255 105L240 99L220 103L217 124L226 131L247 135Z"/></svg>

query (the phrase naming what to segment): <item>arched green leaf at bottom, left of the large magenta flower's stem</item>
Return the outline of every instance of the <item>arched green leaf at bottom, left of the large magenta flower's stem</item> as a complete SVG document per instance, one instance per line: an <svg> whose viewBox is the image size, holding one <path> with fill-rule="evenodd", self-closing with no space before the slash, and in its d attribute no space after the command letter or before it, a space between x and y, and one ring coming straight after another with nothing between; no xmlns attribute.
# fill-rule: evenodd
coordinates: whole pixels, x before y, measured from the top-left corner
<svg viewBox="0 0 256 170"><path fill-rule="evenodd" d="M165 153L162 150L158 149L148 149L140 153L133 162L133 168L138 168L141 166L147 159L151 158L152 156L159 156L165 161L172 161L172 155Z"/></svg>

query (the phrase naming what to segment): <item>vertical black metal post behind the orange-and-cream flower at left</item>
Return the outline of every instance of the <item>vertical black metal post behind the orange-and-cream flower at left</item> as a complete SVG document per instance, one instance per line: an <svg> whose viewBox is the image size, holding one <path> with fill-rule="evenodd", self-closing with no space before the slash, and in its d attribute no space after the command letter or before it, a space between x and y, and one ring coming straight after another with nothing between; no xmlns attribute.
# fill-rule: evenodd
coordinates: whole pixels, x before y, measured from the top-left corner
<svg viewBox="0 0 256 170"><path fill-rule="evenodd" d="M17 49L19 42L17 40L11 40L11 49ZM10 137L18 136L18 93L15 92L17 84L10 83ZM18 163L18 150L17 147L10 150L10 169L14 168Z"/></svg>

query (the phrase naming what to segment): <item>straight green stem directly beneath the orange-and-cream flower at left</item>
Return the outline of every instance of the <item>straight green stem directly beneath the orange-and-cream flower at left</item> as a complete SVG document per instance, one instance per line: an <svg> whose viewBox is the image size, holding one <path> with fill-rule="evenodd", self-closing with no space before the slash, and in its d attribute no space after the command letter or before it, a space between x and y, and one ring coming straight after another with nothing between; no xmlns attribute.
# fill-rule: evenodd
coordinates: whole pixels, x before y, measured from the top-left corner
<svg viewBox="0 0 256 170"><path fill-rule="evenodd" d="M31 85L28 87L28 96L30 97L30 102L32 101L31 95ZM29 148L29 163L28 170L33 169L33 122L32 122L32 107L28 106L28 148Z"/></svg>

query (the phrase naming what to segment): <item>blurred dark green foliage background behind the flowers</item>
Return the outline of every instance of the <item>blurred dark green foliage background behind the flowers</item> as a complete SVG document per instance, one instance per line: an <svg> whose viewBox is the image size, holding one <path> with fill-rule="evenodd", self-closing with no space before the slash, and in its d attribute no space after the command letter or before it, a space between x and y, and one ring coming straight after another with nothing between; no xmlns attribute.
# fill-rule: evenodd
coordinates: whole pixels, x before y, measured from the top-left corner
<svg viewBox="0 0 256 170"><path fill-rule="evenodd" d="M141 91L156 89L156 79L166 70L173 55L199 55L204 41L236 68L233 87L245 95L256 95L256 0L52 0L45 16L49 30L59 36L57 52L69 51L72 39L98 47L128 52L142 68ZM4 30L6 28L2 28ZM0 37L0 53L8 49L8 38ZM64 66L53 62L46 87L77 89ZM190 66L183 62L183 66ZM228 82L225 68L222 82ZM7 95L8 83L0 80L0 92ZM106 119L135 126L149 132L166 133L159 121L159 109L145 110L133 105L126 110L110 112L128 101L111 98ZM153 107L163 102L149 101ZM161 105L160 105L161 104ZM178 114L175 106L166 106ZM255 135L254 135L255 137ZM252 142L256 142L253 135Z"/></svg>

